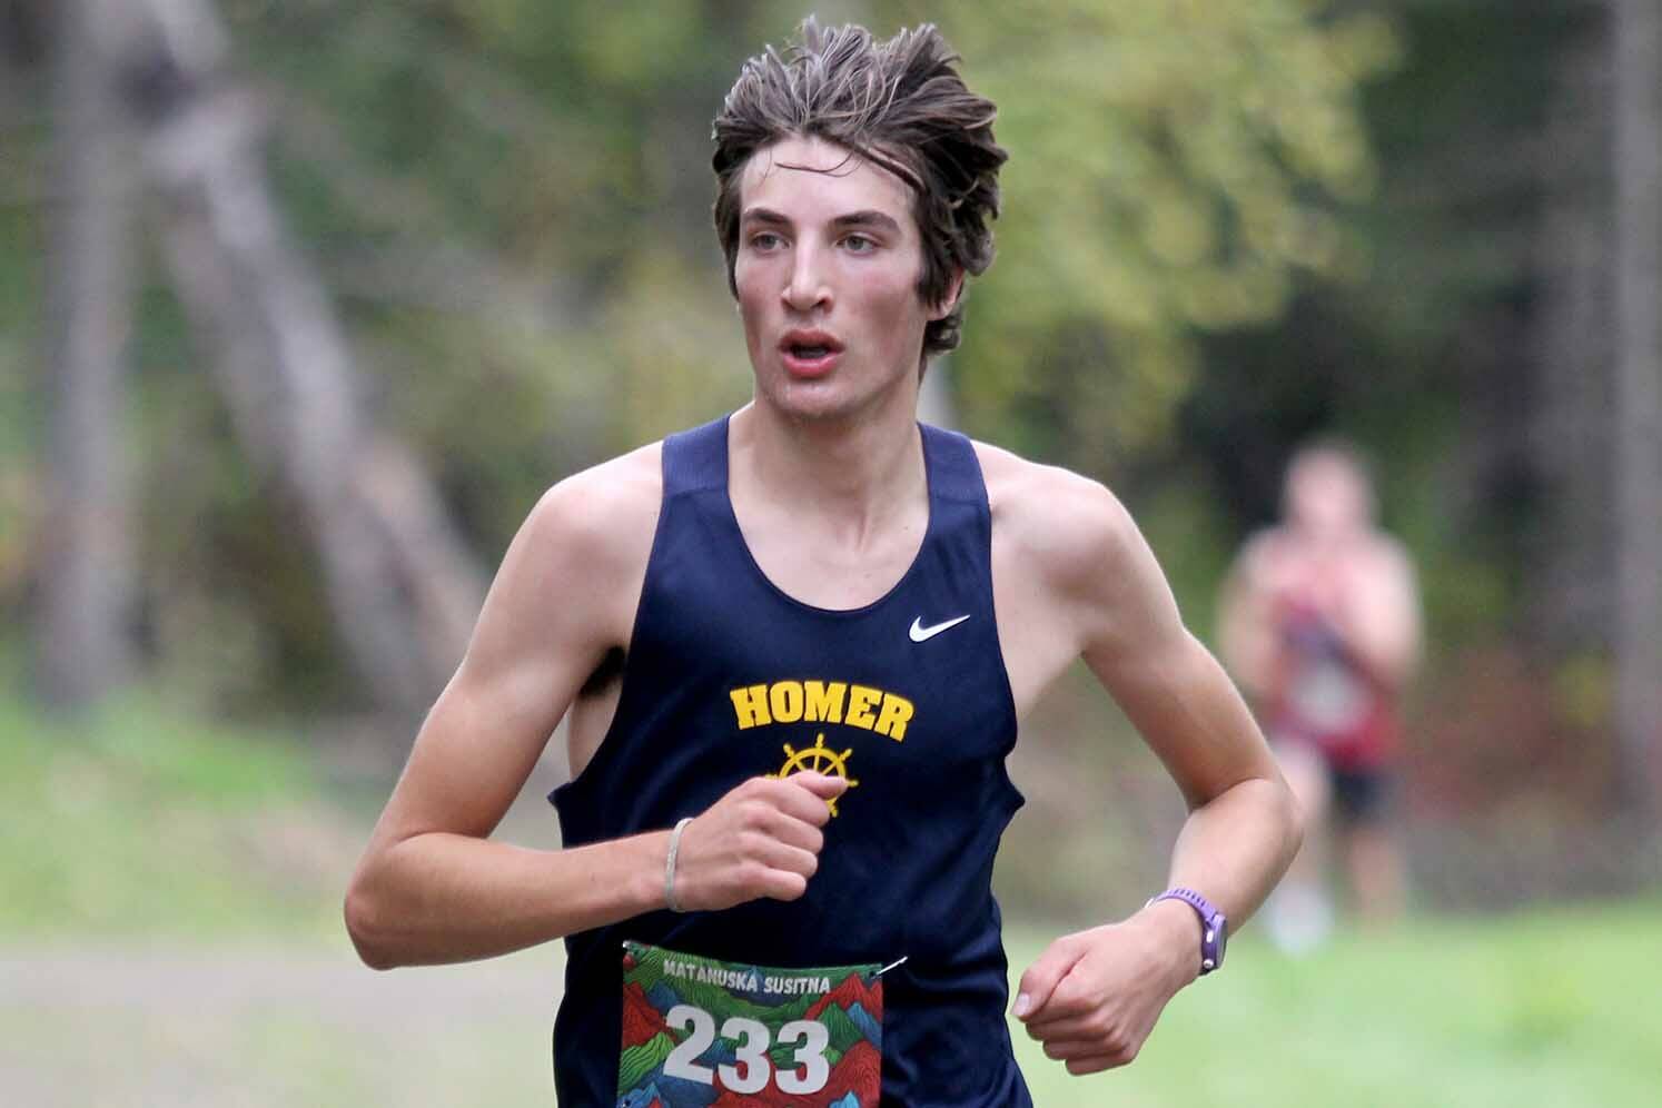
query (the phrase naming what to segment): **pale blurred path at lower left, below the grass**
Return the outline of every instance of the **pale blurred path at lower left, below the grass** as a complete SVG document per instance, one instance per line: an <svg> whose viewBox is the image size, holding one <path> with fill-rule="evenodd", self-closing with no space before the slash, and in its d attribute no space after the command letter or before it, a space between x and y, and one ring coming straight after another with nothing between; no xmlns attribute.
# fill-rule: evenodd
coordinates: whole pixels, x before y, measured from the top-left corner
<svg viewBox="0 0 1662 1108"><path fill-rule="evenodd" d="M0 1100L547 1103L557 949L377 975L336 949L0 949ZM489 1098L480 1091L489 1090Z"/></svg>

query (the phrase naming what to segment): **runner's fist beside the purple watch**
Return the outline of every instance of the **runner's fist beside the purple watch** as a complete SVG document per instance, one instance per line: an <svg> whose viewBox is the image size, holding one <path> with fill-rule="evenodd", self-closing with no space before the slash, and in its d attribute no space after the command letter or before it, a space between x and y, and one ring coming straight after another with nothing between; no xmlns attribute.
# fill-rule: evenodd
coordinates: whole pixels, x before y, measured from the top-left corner
<svg viewBox="0 0 1662 1108"><path fill-rule="evenodd" d="M1160 902L1057 939L1022 973L1015 1018L1069 1073L1132 1061L1167 1002L1200 973L1197 922L1188 905Z"/></svg>

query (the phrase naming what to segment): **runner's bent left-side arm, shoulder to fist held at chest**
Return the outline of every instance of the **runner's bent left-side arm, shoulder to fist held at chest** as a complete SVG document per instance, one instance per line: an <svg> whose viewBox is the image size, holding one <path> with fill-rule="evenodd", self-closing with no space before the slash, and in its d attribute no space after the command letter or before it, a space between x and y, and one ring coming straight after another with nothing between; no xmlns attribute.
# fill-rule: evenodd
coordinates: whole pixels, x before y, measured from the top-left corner
<svg viewBox="0 0 1662 1108"><path fill-rule="evenodd" d="M627 643L656 472L656 453L637 453L563 482L509 547L347 890L369 965L485 958L666 907L668 829L565 851L487 837L582 683ZM821 774L736 784L681 836L678 904L801 897L843 787Z"/></svg>

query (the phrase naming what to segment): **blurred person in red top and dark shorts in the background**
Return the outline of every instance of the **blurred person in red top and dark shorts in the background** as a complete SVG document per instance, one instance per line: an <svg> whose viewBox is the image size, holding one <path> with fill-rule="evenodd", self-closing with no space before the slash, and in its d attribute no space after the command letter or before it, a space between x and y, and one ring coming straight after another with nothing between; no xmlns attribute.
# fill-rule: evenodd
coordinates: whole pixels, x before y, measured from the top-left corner
<svg viewBox="0 0 1662 1108"><path fill-rule="evenodd" d="M1348 444L1293 457L1281 512L1230 571L1222 648L1305 807L1305 847L1265 912L1283 949L1305 950L1333 925L1325 870L1335 844L1365 920L1403 909L1391 796L1419 596L1406 550L1374 523L1373 480Z"/></svg>

